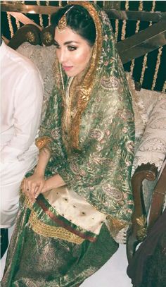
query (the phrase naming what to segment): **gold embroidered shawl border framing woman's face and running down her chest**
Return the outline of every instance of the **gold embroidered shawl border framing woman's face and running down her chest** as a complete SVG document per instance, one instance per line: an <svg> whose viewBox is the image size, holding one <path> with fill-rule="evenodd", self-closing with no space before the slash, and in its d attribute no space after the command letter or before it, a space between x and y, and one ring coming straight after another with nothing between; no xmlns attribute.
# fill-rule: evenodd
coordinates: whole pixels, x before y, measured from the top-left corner
<svg viewBox="0 0 166 287"><path fill-rule="evenodd" d="M79 149L79 126L81 122L82 113L84 109L86 109L89 99L91 97L91 92L94 88L96 83L96 71L99 65L99 59L101 56L101 48L102 48L102 26L101 20L98 17L98 13L96 8L92 4L87 1L74 1L70 3L72 5L80 5L87 9L91 18L93 18L95 26L96 26L96 42L93 47L91 60L89 63L89 68L87 69L86 73L83 75L83 80L81 85L77 83L77 77L72 80L72 84L70 85L70 106L68 107L68 112L71 118L71 112L74 108L75 115L71 119L71 126L70 128L70 139L72 140L72 147ZM76 87L77 87L77 103L73 100L76 94ZM79 90L78 90L79 89ZM72 103L75 103L75 106L72 106ZM63 113L63 123L65 121L65 114ZM63 124L63 128L65 128L65 124Z"/></svg>

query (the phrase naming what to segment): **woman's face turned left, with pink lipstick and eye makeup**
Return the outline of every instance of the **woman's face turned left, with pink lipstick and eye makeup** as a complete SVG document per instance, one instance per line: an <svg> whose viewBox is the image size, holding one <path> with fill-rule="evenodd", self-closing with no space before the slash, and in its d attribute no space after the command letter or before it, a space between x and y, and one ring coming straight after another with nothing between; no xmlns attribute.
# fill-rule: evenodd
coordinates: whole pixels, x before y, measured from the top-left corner
<svg viewBox="0 0 166 287"><path fill-rule="evenodd" d="M58 60L69 77L84 71L91 58L92 49L84 38L70 28L63 32L56 29L55 44Z"/></svg>

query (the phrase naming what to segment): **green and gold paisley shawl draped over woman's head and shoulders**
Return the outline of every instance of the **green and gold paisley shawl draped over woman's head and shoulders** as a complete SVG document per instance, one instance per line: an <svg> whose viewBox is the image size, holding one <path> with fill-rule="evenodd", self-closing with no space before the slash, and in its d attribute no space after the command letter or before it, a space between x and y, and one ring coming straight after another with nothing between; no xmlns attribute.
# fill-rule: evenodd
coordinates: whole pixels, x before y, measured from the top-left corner
<svg viewBox="0 0 166 287"><path fill-rule="evenodd" d="M108 16L87 1L72 5L89 11L96 42L81 80L72 79L68 105L68 77L56 59L56 83L37 145L51 150L46 176L59 173L70 189L106 214L113 233L129 223L133 209L132 98Z"/></svg>

